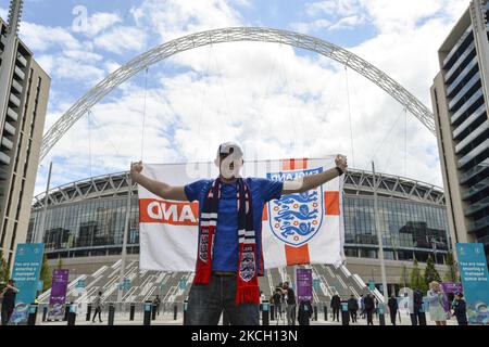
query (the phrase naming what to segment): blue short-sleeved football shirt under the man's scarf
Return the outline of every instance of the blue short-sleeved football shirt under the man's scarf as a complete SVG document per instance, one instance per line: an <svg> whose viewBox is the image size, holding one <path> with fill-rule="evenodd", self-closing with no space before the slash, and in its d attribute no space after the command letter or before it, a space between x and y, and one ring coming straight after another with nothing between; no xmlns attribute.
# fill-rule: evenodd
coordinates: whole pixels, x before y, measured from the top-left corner
<svg viewBox="0 0 489 347"><path fill-rule="evenodd" d="M274 198L279 198L284 182L264 178L247 178L253 205L253 228L256 233L256 269L260 269L262 252L262 215L264 205ZM205 193L213 180L198 180L185 185L185 193L189 202L199 202L199 214L203 206ZM212 257L213 271L237 271L239 256L238 241L238 182L222 183L221 198L217 208L217 227L214 236L214 253ZM200 221L199 221L200 228ZM264 269L264 267L263 267Z"/></svg>

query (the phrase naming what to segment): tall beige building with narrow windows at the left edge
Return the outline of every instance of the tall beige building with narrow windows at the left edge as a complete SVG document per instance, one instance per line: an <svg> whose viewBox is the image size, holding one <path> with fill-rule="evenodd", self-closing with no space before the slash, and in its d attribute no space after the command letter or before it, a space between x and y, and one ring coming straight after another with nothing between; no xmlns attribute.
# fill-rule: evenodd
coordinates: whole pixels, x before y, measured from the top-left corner
<svg viewBox="0 0 489 347"><path fill-rule="evenodd" d="M0 247L12 265L26 241L50 77L18 39L22 1L0 18Z"/></svg>

